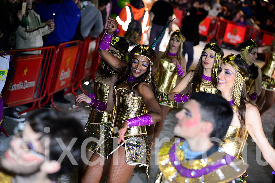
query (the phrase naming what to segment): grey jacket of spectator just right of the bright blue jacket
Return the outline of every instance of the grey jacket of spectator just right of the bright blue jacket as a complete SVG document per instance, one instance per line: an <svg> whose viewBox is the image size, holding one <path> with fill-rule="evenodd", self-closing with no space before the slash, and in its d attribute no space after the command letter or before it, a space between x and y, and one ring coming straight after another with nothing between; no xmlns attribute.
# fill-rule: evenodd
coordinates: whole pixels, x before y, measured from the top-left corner
<svg viewBox="0 0 275 183"><path fill-rule="evenodd" d="M98 37L103 31L103 20L99 9L92 1L88 1L87 6L81 10L81 35L85 39L87 36Z"/></svg>

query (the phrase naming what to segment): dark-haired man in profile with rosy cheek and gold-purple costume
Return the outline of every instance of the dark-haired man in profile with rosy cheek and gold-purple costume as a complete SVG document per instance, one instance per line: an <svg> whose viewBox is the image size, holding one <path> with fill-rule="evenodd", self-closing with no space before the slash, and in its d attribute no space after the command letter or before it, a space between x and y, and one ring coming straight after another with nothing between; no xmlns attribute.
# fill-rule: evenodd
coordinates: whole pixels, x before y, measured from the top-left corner
<svg viewBox="0 0 275 183"><path fill-rule="evenodd" d="M179 138L171 138L160 148L156 183L235 182L248 165L238 163L210 140L225 136L232 117L229 103L221 96L193 93L176 113L174 134Z"/></svg>

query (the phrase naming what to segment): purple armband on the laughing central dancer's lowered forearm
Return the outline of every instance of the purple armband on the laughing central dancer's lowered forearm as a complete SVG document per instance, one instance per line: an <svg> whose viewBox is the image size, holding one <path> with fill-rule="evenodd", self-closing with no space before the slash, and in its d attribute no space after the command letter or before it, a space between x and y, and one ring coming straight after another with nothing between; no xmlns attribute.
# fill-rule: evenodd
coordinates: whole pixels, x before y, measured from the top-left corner
<svg viewBox="0 0 275 183"><path fill-rule="evenodd" d="M146 126L146 125L150 126L153 123L152 117L148 113L141 116L127 119L126 121L127 121L128 127L137 127L137 126Z"/></svg>

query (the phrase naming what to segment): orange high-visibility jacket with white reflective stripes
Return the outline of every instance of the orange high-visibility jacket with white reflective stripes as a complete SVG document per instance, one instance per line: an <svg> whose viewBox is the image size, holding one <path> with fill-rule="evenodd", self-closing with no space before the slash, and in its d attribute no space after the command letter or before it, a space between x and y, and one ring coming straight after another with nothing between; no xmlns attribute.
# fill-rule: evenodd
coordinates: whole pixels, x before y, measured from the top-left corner
<svg viewBox="0 0 275 183"><path fill-rule="evenodd" d="M143 34L146 33L149 29L150 17L149 17L149 12L145 11L144 4L136 3L138 1L139 0L133 0L130 2L131 4L128 4L127 6L125 6L121 10L119 15L116 17L116 23L117 23L117 28L119 29L118 34L121 36L124 36L126 34L126 31L128 30L129 23L134 20L137 20L137 21L140 20L141 17L144 15L143 20L141 21L142 34L141 34L141 41L139 43L139 44L142 44ZM132 10L134 20L132 20L130 9Z"/></svg>

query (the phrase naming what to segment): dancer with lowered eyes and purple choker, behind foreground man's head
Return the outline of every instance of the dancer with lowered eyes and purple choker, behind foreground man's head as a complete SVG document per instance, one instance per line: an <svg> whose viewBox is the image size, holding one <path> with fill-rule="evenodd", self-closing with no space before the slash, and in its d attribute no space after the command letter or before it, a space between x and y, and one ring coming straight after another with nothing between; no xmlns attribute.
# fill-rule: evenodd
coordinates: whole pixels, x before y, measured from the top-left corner
<svg viewBox="0 0 275 183"><path fill-rule="evenodd" d="M189 95L203 91L217 93L217 74L223 51L215 42L205 45L195 70L188 72L168 95L169 100L187 102ZM186 94L179 94L180 92Z"/></svg>

